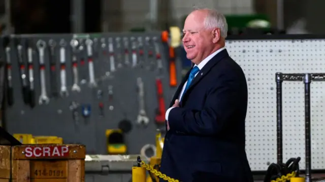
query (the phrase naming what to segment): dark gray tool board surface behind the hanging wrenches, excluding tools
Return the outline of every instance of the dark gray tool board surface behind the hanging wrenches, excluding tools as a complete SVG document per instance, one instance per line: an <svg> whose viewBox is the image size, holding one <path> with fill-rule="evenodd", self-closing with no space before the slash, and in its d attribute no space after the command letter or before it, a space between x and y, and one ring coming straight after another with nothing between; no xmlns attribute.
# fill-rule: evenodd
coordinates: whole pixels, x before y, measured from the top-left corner
<svg viewBox="0 0 325 182"><path fill-rule="evenodd" d="M75 38L73 34L54 34L54 35L15 35L13 38L19 38L22 45L29 42L33 51L34 60L34 83L35 83L35 102L36 106L31 108L23 102L21 93L22 84L20 80L19 65L17 62L17 49L14 41L10 41L10 57L13 83L14 104L6 110L6 128L10 133L30 133L32 135L54 135L63 138L64 143L79 143L86 145L87 154L107 154L106 129L118 128L119 121L127 119L132 123L132 130L125 133L125 144L128 154L139 154L141 148L146 144L155 145L155 134L157 125L154 117L158 107L156 78L163 82L164 99L166 107L175 92L176 87L170 86L169 78L169 54L168 48L160 39L160 32L152 33L109 33L109 34L85 34L78 35L77 40L82 39L84 45L83 52L77 52L80 92L73 91L74 74L72 69L73 49L70 41ZM120 39L121 50L117 49L116 38ZM143 43L143 67L132 65L132 39L138 40L142 37ZM163 66L161 70L157 68L156 50L153 44L149 47L146 44L146 38L150 37L153 43L154 37L157 38L158 50L160 52ZM96 86L89 84L89 65L87 63L87 47L85 41L90 38L93 41L94 78ZM115 56L115 71L111 71L109 40L112 38ZM125 45L124 38L128 39ZM56 42L55 68L56 85L58 97L50 97L48 104L39 104L41 95L40 71L39 71L39 51L36 47L37 42L42 39L48 42L50 39ZM60 46L61 40L66 41L66 83L69 95L60 95ZM105 46L102 44L105 42ZM139 45L139 42L138 44ZM125 54L124 48L128 48L128 54ZM45 49L45 69L46 69L46 90L50 94L50 50ZM136 47L138 48L138 47ZM149 50L153 52L152 61L149 60ZM6 49L2 49L2 57L6 58ZM137 49L138 61L140 61L140 50ZM121 67L119 66L118 54L120 53ZM128 55L129 64L125 64L125 58ZM23 58L27 60L27 50L23 48ZM82 65L81 58L84 58L85 64ZM139 63L139 62L138 62ZM181 79L181 63L176 62L177 79ZM139 113L139 97L137 79L142 78L144 83L144 97L146 113L149 117L148 125L137 124L137 115ZM109 94L113 94L110 97ZM72 102L77 102L79 107L78 121L74 120L72 112ZM103 110L100 108L103 106ZM82 117L82 108L89 108L91 114L88 117ZM103 116L102 116L103 114ZM163 124L165 126L165 124Z"/></svg>

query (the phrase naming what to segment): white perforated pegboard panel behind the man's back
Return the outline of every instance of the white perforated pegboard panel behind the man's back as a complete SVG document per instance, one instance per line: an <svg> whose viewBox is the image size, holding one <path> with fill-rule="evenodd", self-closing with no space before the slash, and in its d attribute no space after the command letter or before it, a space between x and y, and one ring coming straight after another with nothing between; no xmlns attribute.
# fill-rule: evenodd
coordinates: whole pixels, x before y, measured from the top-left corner
<svg viewBox="0 0 325 182"><path fill-rule="evenodd" d="M253 171L276 163L275 73L325 73L325 39L229 40L226 49L248 84L246 152ZM311 83L312 169L325 169L325 82ZM282 84L283 162L301 157L305 169L304 83Z"/></svg>

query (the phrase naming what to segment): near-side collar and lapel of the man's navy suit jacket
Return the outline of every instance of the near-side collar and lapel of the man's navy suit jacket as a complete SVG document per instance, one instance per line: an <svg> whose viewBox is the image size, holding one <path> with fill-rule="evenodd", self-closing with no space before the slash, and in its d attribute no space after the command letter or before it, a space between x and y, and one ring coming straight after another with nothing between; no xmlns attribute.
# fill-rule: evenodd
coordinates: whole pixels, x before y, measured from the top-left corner
<svg viewBox="0 0 325 182"><path fill-rule="evenodd" d="M192 80L191 84L187 88L186 92L184 93L183 98L186 96L188 91L192 89L205 75L208 74L208 72L211 70L211 68L217 64L220 60L222 60L224 57L228 57L229 54L227 50L222 50L220 53L215 55L203 68L199 71L198 75ZM189 74L189 73L188 73ZM188 75L187 75L188 77Z"/></svg>

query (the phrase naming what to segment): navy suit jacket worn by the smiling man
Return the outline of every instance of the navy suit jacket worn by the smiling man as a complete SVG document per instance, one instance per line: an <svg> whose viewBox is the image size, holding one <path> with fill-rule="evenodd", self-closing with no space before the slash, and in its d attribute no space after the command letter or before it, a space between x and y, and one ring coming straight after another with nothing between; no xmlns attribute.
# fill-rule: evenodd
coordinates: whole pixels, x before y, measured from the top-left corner
<svg viewBox="0 0 325 182"><path fill-rule="evenodd" d="M253 181L245 152L246 112L245 75L223 50L200 70L179 107L170 111L160 171L183 182Z"/></svg>

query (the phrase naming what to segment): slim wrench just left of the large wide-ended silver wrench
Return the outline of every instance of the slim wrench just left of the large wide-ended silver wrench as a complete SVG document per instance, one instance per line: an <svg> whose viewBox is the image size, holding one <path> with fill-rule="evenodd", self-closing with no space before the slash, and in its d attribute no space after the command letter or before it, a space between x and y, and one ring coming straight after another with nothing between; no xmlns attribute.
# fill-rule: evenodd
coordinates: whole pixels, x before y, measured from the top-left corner
<svg viewBox="0 0 325 182"><path fill-rule="evenodd" d="M28 79L29 79L29 105L35 107L35 86L34 86L34 63L32 61L31 40L28 41L27 60L28 60Z"/></svg>

